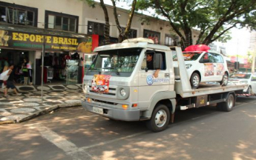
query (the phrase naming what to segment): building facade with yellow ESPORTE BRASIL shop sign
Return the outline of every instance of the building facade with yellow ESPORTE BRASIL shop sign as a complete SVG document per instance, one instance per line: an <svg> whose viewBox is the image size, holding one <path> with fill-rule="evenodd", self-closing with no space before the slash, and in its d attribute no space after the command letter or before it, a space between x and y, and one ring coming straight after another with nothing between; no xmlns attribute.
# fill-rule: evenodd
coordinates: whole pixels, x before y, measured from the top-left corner
<svg viewBox="0 0 256 160"><path fill-rule="evenodd" d="M113 7L107 9L111 43L116 43ZM24 84L41 84L42 66L45 82L81 83L93 59L92 46L104 44L105 16L99 4L92 8L79 0L1 0L0 11L0 72L15 64L16 79ZM117 13L125 27L129 11L119 8ZM129 33L129 38L137 37L168 46L179 41L168 21L139 13L134 14Z"/></svg>

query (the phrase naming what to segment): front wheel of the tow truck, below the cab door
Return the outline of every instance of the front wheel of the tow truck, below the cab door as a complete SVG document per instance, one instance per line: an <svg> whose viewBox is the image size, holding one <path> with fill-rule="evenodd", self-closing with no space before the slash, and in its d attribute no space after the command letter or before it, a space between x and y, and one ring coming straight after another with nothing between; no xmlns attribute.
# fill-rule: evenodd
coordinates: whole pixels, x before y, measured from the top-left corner
<svg viewBox="0 0 256 160"><path fill-rule="evenodd" d="M165 130L170 121L170 110L164 104L157 104L151 119L146 121L147 127L153 132Z"/></svg>

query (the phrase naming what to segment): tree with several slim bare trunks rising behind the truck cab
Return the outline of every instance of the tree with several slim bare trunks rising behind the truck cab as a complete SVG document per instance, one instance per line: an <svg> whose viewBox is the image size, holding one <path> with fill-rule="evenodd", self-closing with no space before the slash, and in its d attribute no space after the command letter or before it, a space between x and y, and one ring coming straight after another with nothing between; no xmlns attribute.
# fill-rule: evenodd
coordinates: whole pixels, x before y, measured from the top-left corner
<svg viewBox="0 0 256 160"><path fill-rule="evenodd" d="M96 2L93 0L82 0L82 1L86 1L90 7L95 7L95 5L96 5ZM119 19L118 19L117 11L116 11L116 1L120 1L120 0L111 0L113 7L114 7L113 11L114 11L114 18L116 21L116 27L119 30L118 41L122 42L124 39L128 39L128 33L131 30L131 22L134 17L137 0L133 0L131 3L131 11L129 13L129 18L128 18L128 22L126 24L125 30L123 30L123 28L119 24ZM105 30L104 30L105 44L110 44L110 36L109 36L110 25L109 25L108 10L107 10L103 0L100 0L99 4L102 7L102 9L104 11L104 15L105 15Z"/></svg>

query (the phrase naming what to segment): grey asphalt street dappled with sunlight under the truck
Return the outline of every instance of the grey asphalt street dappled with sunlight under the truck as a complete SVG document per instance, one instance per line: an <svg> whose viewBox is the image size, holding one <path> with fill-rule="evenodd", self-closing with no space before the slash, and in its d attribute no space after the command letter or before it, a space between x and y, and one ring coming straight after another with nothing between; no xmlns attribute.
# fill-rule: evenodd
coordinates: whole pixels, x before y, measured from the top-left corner
<svg viewBox="0 0 256 160"><path fill-rule="evenodd" d="M0 126L0 159L256 159L256 99L232 112L177 111L174 124L152 133L143 121L113 121L82 107L55 110Z"/></svg>

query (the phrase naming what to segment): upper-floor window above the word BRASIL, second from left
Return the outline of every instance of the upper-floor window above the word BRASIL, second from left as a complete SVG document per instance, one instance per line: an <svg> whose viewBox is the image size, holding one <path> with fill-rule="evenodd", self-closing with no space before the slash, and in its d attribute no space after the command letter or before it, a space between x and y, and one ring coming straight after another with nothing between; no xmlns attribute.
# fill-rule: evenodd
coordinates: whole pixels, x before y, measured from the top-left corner
<svg viewBox="0 0 256 160"><path fill-rule="evenodd" d="M78 16L45 11L45 21L47 22L45 26L48 29L77 32L78 20Z"/></svg>

